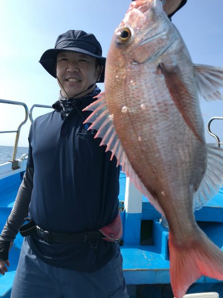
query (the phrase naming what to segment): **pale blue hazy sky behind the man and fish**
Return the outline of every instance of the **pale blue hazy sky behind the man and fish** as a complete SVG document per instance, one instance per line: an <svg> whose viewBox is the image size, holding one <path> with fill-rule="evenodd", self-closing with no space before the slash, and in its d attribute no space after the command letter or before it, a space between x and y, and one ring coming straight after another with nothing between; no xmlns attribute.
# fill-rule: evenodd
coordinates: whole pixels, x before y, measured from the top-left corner
<svg viewBox="0 0 223 298"><path fill-rule="evenodd" d="M0 99L52 105L58 98L56 79L38 63L54 48L59 34L69 29L94 33L106 57L115 28L123 19L130 0L0 0ZM187 0L173 17L192 61L223 67L223 0ZM104 90L104 84L98 84ZM222 90L223 91L223 90ZM206 141L207 123L223 116L223 101L200 102ZM22 106L0 103L0 131L16 130L24 120ZM50 109L35 108L33 118ZM28 146L30 120L22 126L19 146ZM212 131L223 140L223 120ZM0 134L0 145L13 146L14 133Z"/></svg>

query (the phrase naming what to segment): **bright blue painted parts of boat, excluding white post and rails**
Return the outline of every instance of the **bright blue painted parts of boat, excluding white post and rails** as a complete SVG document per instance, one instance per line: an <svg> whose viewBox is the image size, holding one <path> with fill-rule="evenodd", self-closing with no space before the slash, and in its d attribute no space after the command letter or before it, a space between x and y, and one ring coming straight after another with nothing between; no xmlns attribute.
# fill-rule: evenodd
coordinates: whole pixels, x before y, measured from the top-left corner
<svg viewBox="0 0 223 298"><path fill-rule="evenodd" d="M0 228L10 214L24 171L0 180ZM141 212L124 208L125 174L120 172L119 206L123 224L120 243L127 285L169 284L168 229L161 215L142 197ZM223 189L201 210L195 212L200 227L223 249ZM0 277L0 297L9 297L23 238L18 234L11 248L8 272ZM197 284L218 281L201 277ZM222 285L223 283L219 283Z"/></svg>

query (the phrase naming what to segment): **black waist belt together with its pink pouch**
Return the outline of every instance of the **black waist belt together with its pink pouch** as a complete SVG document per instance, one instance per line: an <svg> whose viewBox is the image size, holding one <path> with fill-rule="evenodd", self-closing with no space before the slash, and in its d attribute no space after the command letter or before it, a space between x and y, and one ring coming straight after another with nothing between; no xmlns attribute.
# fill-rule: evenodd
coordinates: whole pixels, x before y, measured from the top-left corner
<svg viewBox="0 0 223 298"><path fill-rule="evenodd" d="M19 227L19 233L25 236L33 236L38 239L42 239L47 242L89 242L97 239L104 239L107 241L118 241L122 235L122 224L120 215L115 218L115 220L107 225L102 227L97 231L87 231L78 234L63 234L52 231L47 231L39 227L32 220L26 218L29 223L24 224ZM118 228L119 225L119 228ZM113 228L112 228L113 226Z"/></svg>

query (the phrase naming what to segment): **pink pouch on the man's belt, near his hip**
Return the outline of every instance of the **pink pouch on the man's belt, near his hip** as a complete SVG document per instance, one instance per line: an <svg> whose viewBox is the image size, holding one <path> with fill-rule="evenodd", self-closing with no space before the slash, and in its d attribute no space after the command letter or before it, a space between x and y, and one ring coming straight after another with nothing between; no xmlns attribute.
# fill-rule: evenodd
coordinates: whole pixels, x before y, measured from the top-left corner
<svg viewBox="0 0 223 298"><path fill-rule="evenodd" d="M106 241L117 241L122 236L122 223L121 223L121 217L120 214L116 216L115 220L106 226L103 226L99 229L103 235L106 236L106 238L102 238Z"/></svg>

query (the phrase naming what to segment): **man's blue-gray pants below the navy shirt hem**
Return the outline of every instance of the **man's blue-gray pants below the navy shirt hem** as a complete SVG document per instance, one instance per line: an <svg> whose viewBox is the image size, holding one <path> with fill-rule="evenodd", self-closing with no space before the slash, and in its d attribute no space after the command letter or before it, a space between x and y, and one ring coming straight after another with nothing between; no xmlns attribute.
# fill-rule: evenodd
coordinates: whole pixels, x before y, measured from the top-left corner
<svg viewBox="0 0 223 298"><path fill-rule="evenodd" d="M117 243L113 258L93 273L57 268L32 253L24 238L11 298L129 298Z"/></svg>

